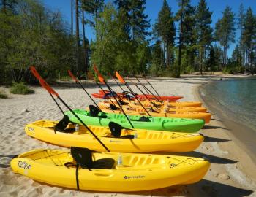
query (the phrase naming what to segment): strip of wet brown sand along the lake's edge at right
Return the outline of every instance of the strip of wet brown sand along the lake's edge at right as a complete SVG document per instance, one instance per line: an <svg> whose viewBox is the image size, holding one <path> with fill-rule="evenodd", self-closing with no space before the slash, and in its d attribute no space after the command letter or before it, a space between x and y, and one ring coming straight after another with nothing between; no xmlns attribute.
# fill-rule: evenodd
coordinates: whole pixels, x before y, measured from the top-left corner
<svg viewBox="0 0 256 197"><path fill-rule="evenodd" d="M228 80L237 79L230 78ZM213 82L216 81L210 80L205 84L197 85L197 87L195 87L195 96L199 101L203 101L205 107L213 115L211 122L213 122L213 120L219 122L218 125L222 125L222 130L224 129L225 134L230 138L230 143L218 143L219 148L224 152L230 153L238 160L238 169L243 171L246 174L246 178L248 177L250 179L249 181L254 185L253 182L256 180L256 151L253 140L256 139L256 132L249 126L241 123L241 120L238 120L238 117L229 112L226 107L221 107L220 104L217 104L210 97L201 93L205 85ZM210 135L217 136L219 134L211 133ZM233 142L233 145L231 145L231 142ZM239 155L239 157L237 157L237 155Z"/></svg>

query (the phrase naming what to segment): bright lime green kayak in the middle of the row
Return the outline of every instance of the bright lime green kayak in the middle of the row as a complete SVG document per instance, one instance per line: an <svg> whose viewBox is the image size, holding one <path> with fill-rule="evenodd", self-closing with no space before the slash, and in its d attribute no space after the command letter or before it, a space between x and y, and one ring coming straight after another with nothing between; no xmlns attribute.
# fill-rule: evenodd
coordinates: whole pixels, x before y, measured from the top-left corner
<svg viewBox="0 0 256 197"><path fill-rule="evenodd" d="M118 123L124 128L132 128L125 115L117 115L112 113L98 112L97 115L91 115L92 112L85 109L73 110L86 125L98 125L108 127L110 121ZM69 120L72 123L81 124L80 121L72 115L71 112L66 112ZM170 117L144 117L140 115L128 115L132 125L135 128L158 130L158 131L183 131L196 132L203 127L204 121L200 119L189 118L170 118Z"/></svg>

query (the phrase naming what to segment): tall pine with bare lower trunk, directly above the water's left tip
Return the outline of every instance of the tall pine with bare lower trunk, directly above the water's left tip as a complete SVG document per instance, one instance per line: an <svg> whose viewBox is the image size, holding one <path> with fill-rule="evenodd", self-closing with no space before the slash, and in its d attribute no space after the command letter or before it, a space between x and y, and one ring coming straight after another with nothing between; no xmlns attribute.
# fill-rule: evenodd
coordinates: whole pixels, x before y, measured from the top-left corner
<svg viewBox="0 0 256 197"><path fill-rule="evenodd" d="M211 28L211 14L205 0L200 0L197 5L196 13L196 28L197 28L197 42L200 53L200 74L203 74L203 62L205 61L206 47L211 45L212 31Z"/></svg>

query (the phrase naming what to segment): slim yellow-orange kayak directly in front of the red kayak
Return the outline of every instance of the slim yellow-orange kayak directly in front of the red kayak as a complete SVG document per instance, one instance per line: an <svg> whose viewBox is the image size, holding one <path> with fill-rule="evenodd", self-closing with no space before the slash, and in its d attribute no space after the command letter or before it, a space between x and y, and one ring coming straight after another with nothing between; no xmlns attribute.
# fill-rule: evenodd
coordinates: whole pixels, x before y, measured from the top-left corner
<svg viewBox="0 0 256 197"><path fill-rule="evenodd" d="M122 98L123 99L123 98ZM115 99L110 99L113 102L116 102ZM127 99L124 99L127 103L133 103L133 104L138 104L138 101L129 101ZM149 105L151 107L151 102L150 101L140 101L143 106ZM154 101L155 104L160 104L159 101ZM202 103L201 102L178 102L178 101L163 101L163 104L168 107L201 107Z"/></svg>

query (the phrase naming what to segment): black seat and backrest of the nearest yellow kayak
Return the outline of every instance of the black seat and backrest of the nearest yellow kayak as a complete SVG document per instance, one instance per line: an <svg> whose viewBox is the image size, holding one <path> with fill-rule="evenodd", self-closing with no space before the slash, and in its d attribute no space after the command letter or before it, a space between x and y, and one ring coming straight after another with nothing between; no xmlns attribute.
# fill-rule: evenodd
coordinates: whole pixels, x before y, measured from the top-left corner
<svg viewBox="0 0 256 197"><path fill-rule="evenodd" d="M116 162L113 158L93 161L92 151L82 147L71 147L71 155L82 169L113 169Z"/></svg>

